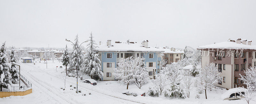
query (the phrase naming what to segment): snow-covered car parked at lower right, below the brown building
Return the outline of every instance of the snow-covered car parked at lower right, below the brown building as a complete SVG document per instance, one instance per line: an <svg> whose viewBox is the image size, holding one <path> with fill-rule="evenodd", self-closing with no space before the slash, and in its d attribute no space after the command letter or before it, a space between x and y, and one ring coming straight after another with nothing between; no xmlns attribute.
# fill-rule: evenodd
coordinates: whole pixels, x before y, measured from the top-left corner
<svg viewBox="0 0 256 104"><path fill-rule="evenodd" d="M238 100L241 98L244 98L244 96L240 94L245 94L245 89L244 88L231 88L225 93L221 95L222 100Z"/></svg>

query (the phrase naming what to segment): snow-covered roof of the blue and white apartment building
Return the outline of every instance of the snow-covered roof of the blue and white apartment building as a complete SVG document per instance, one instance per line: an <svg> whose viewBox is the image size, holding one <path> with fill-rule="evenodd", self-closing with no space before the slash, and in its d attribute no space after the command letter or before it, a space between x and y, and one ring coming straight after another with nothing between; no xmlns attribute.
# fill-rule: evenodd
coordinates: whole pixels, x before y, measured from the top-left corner
<svg viewBox="0 0 256 104"><path fill-rule="evenodd" d="M155 47L143 47L141 43L111 43L111 46L107 46L107 44L99 45L99 48L96 51L135 51L135 52L164 52L164 50Z"/></svg>

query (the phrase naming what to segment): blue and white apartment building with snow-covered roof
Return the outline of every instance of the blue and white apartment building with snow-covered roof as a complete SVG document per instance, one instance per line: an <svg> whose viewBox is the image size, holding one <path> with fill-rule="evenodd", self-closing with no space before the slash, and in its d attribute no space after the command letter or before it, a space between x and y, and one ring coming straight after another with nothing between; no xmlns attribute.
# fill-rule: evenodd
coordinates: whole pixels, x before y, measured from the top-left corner
<svg viewBox="0 0 256 104"><path fill-rule="evenodd" d="M148 67L148 74L150 78L153 78L154 71L160 72L161 52L164 52L160 48L148 47L148 40L141 43L137 42L111 42L108 39L107 44L99 44L97 49L99 58L101 60L101 70L103 71L103 77L101 81L115 80L115 76L112 75L116 64L123 58L127 57L139 57L145 58L146 67Z"/></svg>

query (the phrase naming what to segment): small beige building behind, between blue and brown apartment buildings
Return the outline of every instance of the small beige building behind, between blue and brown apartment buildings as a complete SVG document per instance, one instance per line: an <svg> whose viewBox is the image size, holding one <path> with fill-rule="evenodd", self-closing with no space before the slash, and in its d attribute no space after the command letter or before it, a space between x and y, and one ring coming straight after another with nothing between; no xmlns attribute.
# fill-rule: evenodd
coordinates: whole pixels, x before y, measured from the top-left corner
<svg viewBox="0 0 256 104"><path fill-rule="evenodd" d="M171 64L172 62L178 62L181 60L181 56L183 55L183 51L176 50L175 48L163 48L164 52L162 52L162 59L164 59L167 64Z"/></svg>

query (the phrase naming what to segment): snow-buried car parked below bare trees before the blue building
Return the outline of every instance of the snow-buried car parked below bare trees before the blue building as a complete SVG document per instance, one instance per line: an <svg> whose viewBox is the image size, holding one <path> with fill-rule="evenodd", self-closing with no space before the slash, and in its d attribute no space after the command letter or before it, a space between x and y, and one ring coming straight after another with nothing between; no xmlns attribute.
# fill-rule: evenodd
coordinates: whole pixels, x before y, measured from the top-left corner
<svg viewBox="0 0 256 104"><path fill-rule="evenodd" d="M146 96L146 92L139 89L139 88L132 88L132 89L127 89L123 91L123 94L126 95L133 95L133 96Z"/></svg>

